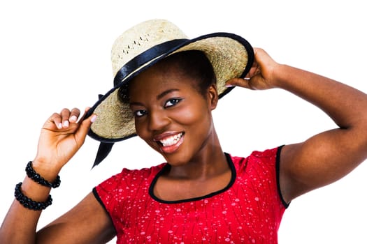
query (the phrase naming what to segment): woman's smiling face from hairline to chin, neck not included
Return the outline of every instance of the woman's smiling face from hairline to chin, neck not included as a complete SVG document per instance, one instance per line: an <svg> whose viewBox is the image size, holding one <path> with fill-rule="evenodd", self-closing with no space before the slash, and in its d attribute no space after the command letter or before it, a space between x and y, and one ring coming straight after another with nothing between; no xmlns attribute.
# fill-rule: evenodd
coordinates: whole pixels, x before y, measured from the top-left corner
<svg viewBox="0 0 367 244"><path fill-rule="evenodd" d="M171 165L193 160L215 141L211 110L217 91L212 85L202 94L194 82L177 68L156 65L129 85L138 136Z"/></svg>

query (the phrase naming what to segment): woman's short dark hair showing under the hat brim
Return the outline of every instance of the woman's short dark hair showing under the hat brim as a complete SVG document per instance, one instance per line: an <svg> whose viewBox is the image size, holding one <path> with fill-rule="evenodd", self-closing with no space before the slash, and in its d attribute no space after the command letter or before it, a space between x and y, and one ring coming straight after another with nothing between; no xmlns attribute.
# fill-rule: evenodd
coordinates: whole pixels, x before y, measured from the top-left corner
<svg viewBox="0 0 367 244"><path fill-rule="evenodd" d="M193 85L203 96L205 96L209 86L217 81L208 57L199 50L177 52L167 56L157 64L163 66L167 64L177 68L181 75L192 78L192 80L196 81ZM120 87L118 96L122 102L129 103L129 82Z"/></svg>

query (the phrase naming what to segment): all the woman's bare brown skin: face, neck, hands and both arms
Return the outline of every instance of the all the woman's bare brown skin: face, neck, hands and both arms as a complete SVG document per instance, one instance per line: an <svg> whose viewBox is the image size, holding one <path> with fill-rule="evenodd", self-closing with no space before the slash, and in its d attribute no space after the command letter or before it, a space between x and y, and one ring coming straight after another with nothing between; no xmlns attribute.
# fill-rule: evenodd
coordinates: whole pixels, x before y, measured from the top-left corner
<svg viewBox="0 0 367 244"><path fill-rule="evenodd" d="M154 67L158 66L152 66L131 84L130 94L131 109L139 116L138 135L171 165L171 170L159 178L154 194L161 199L175 200L221 190L231 174L211 116L218 99L215 86L210 86L203 96L189 82L178 83L185 75L164 73L166 70ZM147 78L152 82L149 88L147 83L142 83ZM285 89L324 110L338 125L336 129L282 149L280 190L285 201L337 181L367 158L365 93L276 63L262 49L255 49L255 62L248 79L231 79L227 84L247 89ZM175 91L157 97L168 86ZM183 99L177 102L174 100L177 98ZM43 125L34 169L49 181L55 179L82 146L95 119L92 116L77 122L79 116L78 109L63 109L52 114ZM50 192L27 177L22 190L36 201L44 201ZM166 195L168 190L173 195ZM0 243L50 243L50 240L52 243L103 243L115 234L108 215L92 194L36 233L40 215L14 201L0 229Z"/></svg>

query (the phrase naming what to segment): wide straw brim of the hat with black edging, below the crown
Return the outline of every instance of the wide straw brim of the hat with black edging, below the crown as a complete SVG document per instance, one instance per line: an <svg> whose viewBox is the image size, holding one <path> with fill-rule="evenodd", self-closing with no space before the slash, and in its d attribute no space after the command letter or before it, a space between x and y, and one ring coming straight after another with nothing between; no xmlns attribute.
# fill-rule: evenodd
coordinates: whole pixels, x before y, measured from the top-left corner
<svg viewBox="0 0 367 244"><path fill-rule="evenodd" d="M120 142L136 136L134 116L129 105L118 98L117 91L129 80L154 65L166 56L176 52L199 50L206 54L217 77L217 90L220 98L229 93L225 82L234 77L245 77L254 61L250 43L233 33L211 33L194 39L166 43L157 49L136 56L136 60L122 67L122 75L117 74L115 85L89 109L85 118L97 114L88 135L100 142Z"/></svg>

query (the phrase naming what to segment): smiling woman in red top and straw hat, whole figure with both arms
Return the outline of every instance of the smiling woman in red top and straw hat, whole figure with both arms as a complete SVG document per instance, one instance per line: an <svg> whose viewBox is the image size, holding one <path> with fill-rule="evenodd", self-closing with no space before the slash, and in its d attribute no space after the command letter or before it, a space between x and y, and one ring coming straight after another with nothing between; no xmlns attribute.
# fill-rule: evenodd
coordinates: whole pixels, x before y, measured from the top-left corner
<svg viewBox="0 0 367 244"><path fill-rule="evenodd" d="M165 31L155 29L157 36L169 36L166 29L177 31L165 26L169 23L158 22ZM157 26L156 21L149 23ZM147 23L143 26L147 28ZM133 32L145 33L143 26ZM149 42L157 36L140 37ZM13 202L1 227L1 243L103 243L113 236L118 243L277 243L282 214L292 199L337 181L366 159L366 94L276 63L263 49L254 49L252 62L252 48L238 36L214 34L189 41L177 38L178 33L173 36L179 43L164 40L139 55L131 54L136 47L124 46L129 46L127 52L117 43L114 89L79 121L78 109L63 109L45 122L29 175L16 192L17 199L26 204ZM209 43L218 37L240 43L233 52L236 56L229 55L229 49L236 49L234 43L228 45L226 55L208 51ZM167 43L170 46L164 49L161 44ZM152 47L154 52L164 51L152 58ZM216 43L213 50L220 47L223 43ZM134 58L122 60L122 53ZM141 61L142 54L151 61ZM215 55L231 62L218 64ZM212 111L233 86L285 89L324 110L338 128L298 144L255 151L246 158L224 153ZM126 109L129 115L124 114ZM134 128L129 127L131 118ZM110 150L106 143L134 135L161 153L167 163L124 169L36 233L41 215L37 203L42 208L50 204L50 187L59 185L59 171L88 132L103 143L96 163ZM34 172L44 181L34 177Z"/></svg>

